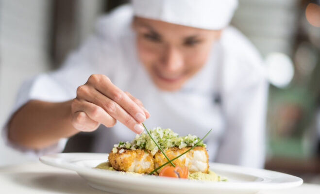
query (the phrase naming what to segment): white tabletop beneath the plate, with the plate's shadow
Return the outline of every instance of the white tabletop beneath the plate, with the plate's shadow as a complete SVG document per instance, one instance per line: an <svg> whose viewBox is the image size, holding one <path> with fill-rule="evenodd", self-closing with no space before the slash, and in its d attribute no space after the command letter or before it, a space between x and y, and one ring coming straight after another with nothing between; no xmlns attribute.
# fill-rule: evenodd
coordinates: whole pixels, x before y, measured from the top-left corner
<svg viewBox="0 0 320 194"><path fill-rule="evenodd" d="M40 162L0 167L0 188L3 194L107 194L91 188L76 172ZM320 185L304 183L300 187L258 194L320 194Z"/></svg>

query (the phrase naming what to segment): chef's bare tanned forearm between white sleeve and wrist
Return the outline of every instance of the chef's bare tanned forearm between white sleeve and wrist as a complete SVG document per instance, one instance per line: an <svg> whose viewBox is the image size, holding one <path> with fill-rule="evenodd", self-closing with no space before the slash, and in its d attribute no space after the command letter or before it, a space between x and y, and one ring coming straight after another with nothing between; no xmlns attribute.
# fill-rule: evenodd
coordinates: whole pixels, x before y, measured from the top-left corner
<svg viewBox="0 0 320 194"><path fill-rule="evenodd" d="M51 146L60 138L79 132L71 124L71 101L45 102L30 100L13 116L8 125L11 142L40 149Z"/></svg>

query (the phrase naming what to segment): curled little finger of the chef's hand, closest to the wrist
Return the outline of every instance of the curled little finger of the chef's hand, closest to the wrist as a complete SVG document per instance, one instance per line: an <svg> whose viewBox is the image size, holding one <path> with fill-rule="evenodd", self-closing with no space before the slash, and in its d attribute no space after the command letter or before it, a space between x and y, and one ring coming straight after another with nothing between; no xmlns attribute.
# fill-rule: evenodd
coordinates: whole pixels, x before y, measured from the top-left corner
<svg viewBox="0 0 320 194"><path fill-rule="evenodd" d="M72 115L72 126L80 131L94 131L99 127L99 123L90 119L89 116L82 112L76 112Z"/></svg>

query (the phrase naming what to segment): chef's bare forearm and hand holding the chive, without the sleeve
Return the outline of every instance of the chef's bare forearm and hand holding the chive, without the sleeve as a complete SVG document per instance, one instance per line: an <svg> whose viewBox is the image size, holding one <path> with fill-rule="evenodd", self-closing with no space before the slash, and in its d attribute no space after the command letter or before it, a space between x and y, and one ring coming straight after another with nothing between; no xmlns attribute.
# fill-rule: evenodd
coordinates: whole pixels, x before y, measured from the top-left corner
<svg viewBox="0 0 320 194"><path fill-rule="evenodd" d="M94 74L78 87L73 100L27 102L12 116L8 138L13 143L41 149L79 131L93 131L100 123L112 127L117 120L141 133L141 122L149 116L138 99L121 91L105 75Z"/></svg>

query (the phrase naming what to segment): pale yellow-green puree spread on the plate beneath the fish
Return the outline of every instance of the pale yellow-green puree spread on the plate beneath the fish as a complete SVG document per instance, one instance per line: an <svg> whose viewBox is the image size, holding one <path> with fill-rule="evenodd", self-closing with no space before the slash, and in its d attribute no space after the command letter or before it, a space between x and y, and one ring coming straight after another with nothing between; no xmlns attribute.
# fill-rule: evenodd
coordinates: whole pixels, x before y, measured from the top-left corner
<svg viewBox="0 0 320 194"><path fill-rule="evenodd" d="M103 162L96 166L95 168L105 169L105 170L115 170L112 166L110 166L109 162ZM135 175L141 175L139 173L133 173L133 172L122 172L126 174L135 174ZM191 180L207 180L207 181L227 181L226 178L221 178L216 173L212 172L211 170L208 170L208 173L202 173L202 172L196 172L191 173L188 175L188 179Z"/></svg>

